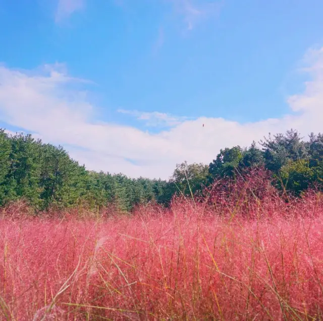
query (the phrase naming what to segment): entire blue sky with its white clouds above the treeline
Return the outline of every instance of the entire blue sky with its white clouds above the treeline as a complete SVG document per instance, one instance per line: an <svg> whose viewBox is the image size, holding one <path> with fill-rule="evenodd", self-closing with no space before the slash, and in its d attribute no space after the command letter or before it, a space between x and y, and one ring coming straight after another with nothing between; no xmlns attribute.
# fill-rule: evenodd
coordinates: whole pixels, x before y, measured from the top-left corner
<svg viewBox="0 0 323 321"><path fill-rule="evenodd" d="M0 0L0 126L162 178L268 132L318 132L322 14L318 0Z"/></svg>

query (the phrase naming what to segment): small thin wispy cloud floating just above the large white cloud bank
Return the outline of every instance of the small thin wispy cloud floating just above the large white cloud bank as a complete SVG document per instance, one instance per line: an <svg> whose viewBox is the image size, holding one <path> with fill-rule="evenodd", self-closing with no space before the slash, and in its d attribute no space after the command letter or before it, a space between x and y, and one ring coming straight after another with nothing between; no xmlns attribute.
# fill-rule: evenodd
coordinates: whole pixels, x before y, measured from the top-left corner
<svg viewBox="0 0 323 321"><path fill-rule="evenodd" d="M118 109L118 112L136 117L145 122L149 127L173 127L188 120L188 117L180 117L164 112L143 112L138 110Z"/></svg>

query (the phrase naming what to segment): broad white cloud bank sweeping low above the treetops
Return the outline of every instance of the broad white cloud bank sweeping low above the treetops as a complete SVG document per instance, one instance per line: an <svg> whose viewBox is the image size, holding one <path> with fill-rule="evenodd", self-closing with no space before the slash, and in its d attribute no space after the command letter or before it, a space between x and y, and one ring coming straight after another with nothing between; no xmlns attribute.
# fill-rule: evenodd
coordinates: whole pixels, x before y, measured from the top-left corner
<svg viewBox="0 0 323 321"><path fill-rule="evenodd" d="M45 142L69 146L71 156L88 169L167 178L176 163L209 163L220 148L248 146L269 132L293 127L305 136L322 131L323 49L308 51L304 63L311 80L303 93L288 98L290 113L284 117L242 124L224 118L178 121L163 113L130 112L144 121L174 121L171 129L158 134L92 121L95 106L78 88L80 81L60 65L38 73L0 67L0 119L37 133Z"/></svg>

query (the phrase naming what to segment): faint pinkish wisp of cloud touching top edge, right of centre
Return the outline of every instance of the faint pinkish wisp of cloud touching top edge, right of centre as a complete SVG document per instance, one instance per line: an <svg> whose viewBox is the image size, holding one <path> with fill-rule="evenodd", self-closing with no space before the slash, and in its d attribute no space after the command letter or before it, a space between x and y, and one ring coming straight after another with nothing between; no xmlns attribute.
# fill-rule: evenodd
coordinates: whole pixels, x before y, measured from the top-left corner
<svg viewBox="0 0 323 321"><path fill-rule="evenodd" d="M220 13L222 2L207 0L169 0L175 10L183 16L188 30L192 30L201 20L217 16Z"/></svg>

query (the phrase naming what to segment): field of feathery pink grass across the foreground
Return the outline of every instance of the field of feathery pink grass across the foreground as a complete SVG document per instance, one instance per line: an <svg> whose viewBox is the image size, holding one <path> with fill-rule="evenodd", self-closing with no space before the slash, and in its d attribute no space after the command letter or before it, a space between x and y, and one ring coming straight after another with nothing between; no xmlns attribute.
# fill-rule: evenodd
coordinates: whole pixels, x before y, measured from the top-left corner
<svg viewBox="0 0 323 321"><path fill-rule="evenodd" d="M261 202L247 214L180 200L97 219L4 212L0 319L323 319L320 196Z"/></svg>

